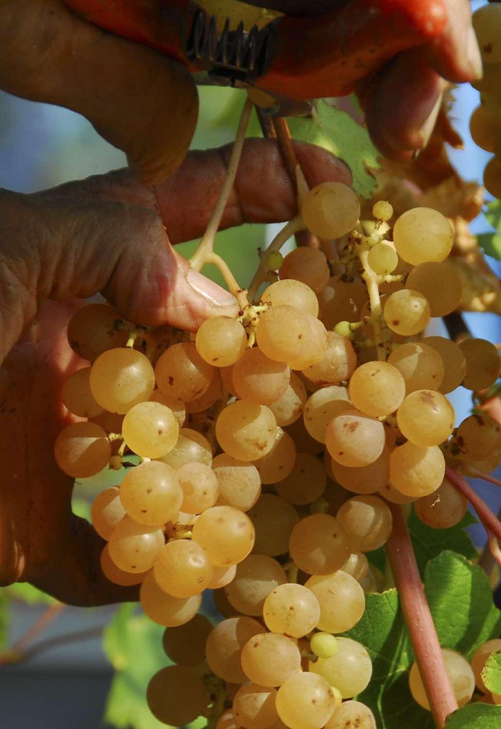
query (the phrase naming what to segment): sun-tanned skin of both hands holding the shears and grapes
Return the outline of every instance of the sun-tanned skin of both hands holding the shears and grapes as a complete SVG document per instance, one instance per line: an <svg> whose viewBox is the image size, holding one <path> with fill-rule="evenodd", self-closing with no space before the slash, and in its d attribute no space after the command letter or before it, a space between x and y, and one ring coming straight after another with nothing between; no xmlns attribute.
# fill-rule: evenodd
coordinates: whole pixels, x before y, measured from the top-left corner
<svg viewBox="0 0 501 729"><path fill-rule="evenodd" d="M468 3L450 4L457 26L437 47L403 54L366 82L368 120L383 152L408 155L409 144L419 146L419 127L443 84L438 73L453 80L475 75L475 53L470 71L463 60ZM275 5L301 12L298 1ZM306 5L320 11L329 4ZM416 87L397 99L395 84L409 68ZM182 66L103 34L59 0L0 0L0 87L84 114L146 182L165 179L181 163L197 115L196 91ZM399 126L398 114L414 127ZM327 152L296 144L296 155L309 184L350 184L346 165ZM143 324L194 330L211 314L237 311L227 292L189 271L170 245L202 234L228 157L227 147L190 152L156 187L118 171L34 195L0 191L0 585L28 580L82 605L136 596L135 588L111 585L101 574L103 540L71 514L72 480L52 456L68 422L60 386L82 364L68 347L66 324L82 299L98 292ZM248 141L224 227L283 221L295 212L275 144Z"/></svg>

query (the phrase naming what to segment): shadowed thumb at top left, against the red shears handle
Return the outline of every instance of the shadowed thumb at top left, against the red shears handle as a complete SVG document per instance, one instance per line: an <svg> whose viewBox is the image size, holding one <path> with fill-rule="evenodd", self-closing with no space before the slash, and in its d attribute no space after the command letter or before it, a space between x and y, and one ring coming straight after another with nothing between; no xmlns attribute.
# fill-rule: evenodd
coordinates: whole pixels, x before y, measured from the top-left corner
<svg viewBox="0 0 501 729"><path fill-rule="evenodd" d="M181 164L197 123L181 63L100 31L60 0L0 2L0 87L83 114L148 184Z"/></svg>

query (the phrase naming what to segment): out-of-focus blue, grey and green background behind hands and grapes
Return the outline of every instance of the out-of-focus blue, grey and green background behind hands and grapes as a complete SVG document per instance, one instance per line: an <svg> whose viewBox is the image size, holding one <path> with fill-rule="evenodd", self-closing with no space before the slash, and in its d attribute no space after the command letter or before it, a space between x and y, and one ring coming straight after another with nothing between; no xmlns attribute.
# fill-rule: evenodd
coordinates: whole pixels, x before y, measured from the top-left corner
<svg viewBox="0 0 501 729"><path fill-rule="evenodd" d="M473 2L473 9L481 4L484 2ZM481 182L489 155L476 147L468 131L470 114L479 103L478 92L464 85L455 91L455 96L452 117L465 141L465 149L451 150L451 159L465 179ZM216 87L200 88L201 113L193 147L205 149L232 141L242 103L242 92ZM259 127L254 119L250 135L257 133ZM0 93L0 187L34 192L69 180L102 174L125 164L125 155L100 139L82 117L66 109ZM489 230L489 224L483 216L479 216L473 222L473 232L486 230ZM219 235L218 252L229 263L242 286L248 284L256 268L256 249L271 240L275 233L276 226L248 225ZM189 255L195 245L196 241L189 242L180 246L180 250ZM489 262L500 273L499 264ZM500 317L471 313L465 318L474 335L495 343L501 341ZM446 336L441 321L433 322L433 332L430 333ZM458 388L449 397L456 409L457 421L461 421L470 412L470 392ZM119 483L119 477L114 483ZM111 483L100 483L96 479L79 483L79 498L89 501L105 485ZM501 491L497 498L492 486L479 483L477 488L497 511L501 504ZM85 504L80 506L85 510ZM473 527L473 537L480 541L481 529ZM0 590L0 607L6 594L5 590ZM25 634L42 615L45 615L42 620L48 623L47 605L39 604L37 596L23 593L24 598L28 596L33 601L31 605L24 599L12 599L13 596L15 598L13 593L9 593L9 645ZM58 607L52 607L51 610L49 618L54 620L43 632L43 650L19 666L0 668L1 726L5 729L109 727L103 722L103 714L113 668L102 650L101 631L116 609L68 607L60 611ZM1 631L0 618L0 642ZM67 636L70 636L69 639ZM140 640L141 636L136 637ZM114 655L119 656L119 652L115 651ZM115 715L114 724L127 729L130 726L127 716L127 712L122 719ZM152 717L151 720L138 717L135 723L141 729L160 726Z"/></svg>

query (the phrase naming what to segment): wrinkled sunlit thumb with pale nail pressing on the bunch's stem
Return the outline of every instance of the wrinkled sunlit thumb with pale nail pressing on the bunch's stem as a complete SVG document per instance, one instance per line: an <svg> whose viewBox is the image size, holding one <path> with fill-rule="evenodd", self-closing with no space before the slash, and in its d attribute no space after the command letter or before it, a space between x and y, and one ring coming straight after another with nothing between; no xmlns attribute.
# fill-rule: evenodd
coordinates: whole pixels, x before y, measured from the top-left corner
<svg viewBox="0 0 501 729"><path fill-rule="evenodd" d="M186 330L235 316L234 297L192 270L156 212L53 192L0 192L0 362L46 298L102 293L126 319Z"/></svg>

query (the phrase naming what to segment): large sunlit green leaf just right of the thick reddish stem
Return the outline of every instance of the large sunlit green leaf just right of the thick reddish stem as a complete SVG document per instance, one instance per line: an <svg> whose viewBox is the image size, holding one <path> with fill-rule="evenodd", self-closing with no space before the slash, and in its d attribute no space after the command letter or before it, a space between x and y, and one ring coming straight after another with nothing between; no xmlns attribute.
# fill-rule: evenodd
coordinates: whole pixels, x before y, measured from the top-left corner
<svg viewBox="0 0 501 729"><path fill-rule="evenodd" d="M471 657L501 627L489 578L462 555L445 551L425 569L425 593L438 640L444 648Z"/></svg>

